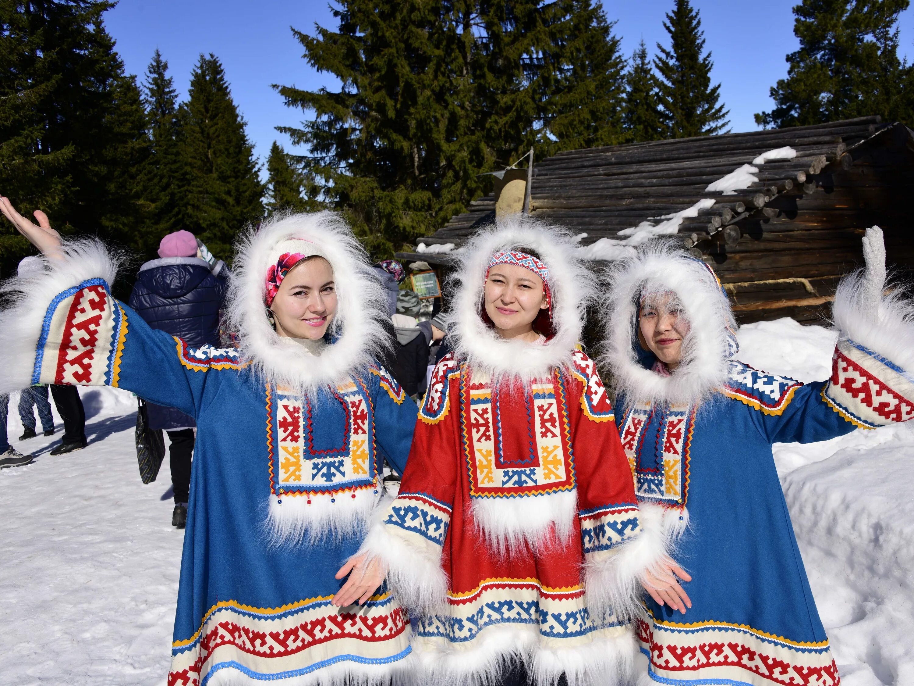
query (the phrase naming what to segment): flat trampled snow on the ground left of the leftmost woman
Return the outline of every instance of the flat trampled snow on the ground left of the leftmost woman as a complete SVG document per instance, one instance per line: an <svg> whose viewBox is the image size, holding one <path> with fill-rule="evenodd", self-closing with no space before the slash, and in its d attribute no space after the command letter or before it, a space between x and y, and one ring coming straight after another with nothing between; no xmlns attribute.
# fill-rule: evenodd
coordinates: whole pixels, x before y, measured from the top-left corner
<svg viewBox="0 0 914 686"><path fill-rule="evenodd" d="M0 471L0 684L164 686L184 541L168 459L143 486L136 398L80 395L90 445L57 457L56 409L56 435L19 443L10 398L10 442L36 459Z"/></svg>

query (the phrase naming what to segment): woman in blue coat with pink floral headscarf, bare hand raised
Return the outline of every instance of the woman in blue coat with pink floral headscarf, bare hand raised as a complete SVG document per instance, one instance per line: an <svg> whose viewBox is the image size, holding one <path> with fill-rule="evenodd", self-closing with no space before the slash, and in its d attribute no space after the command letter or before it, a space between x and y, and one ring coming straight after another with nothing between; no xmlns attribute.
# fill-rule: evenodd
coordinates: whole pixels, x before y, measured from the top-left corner
<svg viewBox="0 0 914 686"><path fill-rule="evenodd" d="M61 241L0 198L44 252L3 285L0 388L111 385L197 420L168 683L386 684L409 672L409 622L353 558L383 458L402 471L418 408L374 362L385 300L330 212L279 216L237 245L238 349L188 349L111 295L118 257ZM352 572L350 574L350 572ZM347 581L343 578L349 575Z"/></svg>

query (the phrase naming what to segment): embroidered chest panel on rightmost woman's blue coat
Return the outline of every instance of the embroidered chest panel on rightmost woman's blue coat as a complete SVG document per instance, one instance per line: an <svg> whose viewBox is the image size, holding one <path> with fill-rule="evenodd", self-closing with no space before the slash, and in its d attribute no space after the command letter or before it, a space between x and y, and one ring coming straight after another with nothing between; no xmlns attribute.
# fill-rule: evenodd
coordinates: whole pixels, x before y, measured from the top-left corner
<svg viewBox="0 0 914 686"><path fill-rule="evenodd" d="M643 403L625 414L620 438L639 501L685 507L694 427L695 410L690 405L657 408Z"/></svg>

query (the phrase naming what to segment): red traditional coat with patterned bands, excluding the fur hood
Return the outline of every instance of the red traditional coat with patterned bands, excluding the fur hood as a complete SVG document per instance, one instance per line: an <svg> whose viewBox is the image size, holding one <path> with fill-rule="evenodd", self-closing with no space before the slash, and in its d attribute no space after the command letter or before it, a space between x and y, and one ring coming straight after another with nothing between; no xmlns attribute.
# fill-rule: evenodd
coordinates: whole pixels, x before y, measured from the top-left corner
<svg viewBox="0 0 914 686"><path fill-rule="evenodd" d="M585 562L615 554L639 521L611 403L592 360L573 360L493 387L449 355L431 377L383 554L422 610L413 647L449 676L515 655L545 679L596 677L632 649L626 622L585 597Z"/></svg>

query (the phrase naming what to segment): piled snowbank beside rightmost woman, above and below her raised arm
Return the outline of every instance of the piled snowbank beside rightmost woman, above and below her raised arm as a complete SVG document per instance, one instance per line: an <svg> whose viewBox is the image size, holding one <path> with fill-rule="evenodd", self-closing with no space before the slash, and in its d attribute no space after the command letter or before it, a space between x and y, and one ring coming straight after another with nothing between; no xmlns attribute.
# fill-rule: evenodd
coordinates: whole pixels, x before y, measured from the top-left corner
<svg viewBox="0 0 914 686"><path fill-rule="evenodd" d="M834 339L792 319L751 324L737 357L822 381ZM842 682L914 683L914 427L779 444L774 459Z"/></svg>

